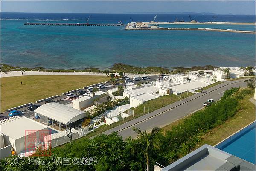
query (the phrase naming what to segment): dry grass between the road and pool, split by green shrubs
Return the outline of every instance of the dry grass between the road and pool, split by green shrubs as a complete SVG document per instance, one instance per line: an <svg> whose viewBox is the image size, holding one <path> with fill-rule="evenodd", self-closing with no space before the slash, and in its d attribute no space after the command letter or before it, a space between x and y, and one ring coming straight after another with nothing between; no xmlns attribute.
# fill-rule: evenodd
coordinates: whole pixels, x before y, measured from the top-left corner
<svg viewBox="0 0 256 171"><path fill-rule="evenodd" d="M249 99L253 97L254 94L246 96L243 100L239 101L239 111L230 119L228 119L224 124L210 130L208 133L201 137L201 141L198 142L195 148L191 151L201 147L204 144L216 145L223 139L232 135L236 131L255 121L255 105L252 104ZM203 109L204 110L204 109ZM192 115L186 116L183 119L177 120L169 125L163 127L163 132L171 130L172 127L177 126L182 123L185 119L190 118Z"/></svg>

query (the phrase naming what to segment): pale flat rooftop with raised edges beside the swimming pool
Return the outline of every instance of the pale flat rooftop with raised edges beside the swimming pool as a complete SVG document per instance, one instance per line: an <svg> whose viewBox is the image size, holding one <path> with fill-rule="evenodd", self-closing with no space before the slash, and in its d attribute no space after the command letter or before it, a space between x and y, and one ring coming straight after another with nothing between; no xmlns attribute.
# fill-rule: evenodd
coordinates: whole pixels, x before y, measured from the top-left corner
<svg viewBox="0 0 256 171"><path fill-rule="evenodd" d="M205 144L162 169L162 171L177 170L255 170L255 165L229 153L221 151L218 148Z"/></svg>

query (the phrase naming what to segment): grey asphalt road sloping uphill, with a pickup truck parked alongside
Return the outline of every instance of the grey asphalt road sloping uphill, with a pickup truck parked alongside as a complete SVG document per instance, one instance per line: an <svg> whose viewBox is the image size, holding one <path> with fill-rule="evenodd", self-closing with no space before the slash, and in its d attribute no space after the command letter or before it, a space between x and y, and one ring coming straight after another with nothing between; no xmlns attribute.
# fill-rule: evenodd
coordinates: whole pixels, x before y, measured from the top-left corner
<svg viewBox="0 0 256 171"><path fill-rule="evenodd" d="M225 83L218 84L204 90L203 93L197 93L189 96L186 99L182 99L161 109L155 110L154 112L148 113L137 119L107 130L104 132L104 134L108 135L113 131L118 131L118 134L124 139L129 136L136 138L137 134L131 130L133 126L150 132L155 126L164 127L169 125L170 123L201 109L204 107L203 103L208 99L214 99L215 101L219 100L221 96L223 96L224 91L230 89L231 87L246 87L244 80L246 79L227 81Z"/></svg>

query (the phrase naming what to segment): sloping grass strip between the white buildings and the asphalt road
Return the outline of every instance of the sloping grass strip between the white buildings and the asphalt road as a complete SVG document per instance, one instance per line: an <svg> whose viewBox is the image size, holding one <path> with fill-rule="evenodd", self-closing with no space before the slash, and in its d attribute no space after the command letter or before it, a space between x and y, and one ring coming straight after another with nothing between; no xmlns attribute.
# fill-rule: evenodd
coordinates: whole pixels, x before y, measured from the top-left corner
<svg viewBox="0 0 256 171"><path fill-rule="evenodd" d="M182 94L182 99L183 99L183 97L186 98L186 97L191 96L193 94L194 93L190 93L190 92L184 93L184 94ZM119 125L122 125L125 122L131 121L135 118L143 116L143 115L145 115L149 112L153 112L154 110L160 109L163 106L167 106L167 105L172 104L172 103L174 103L176 101L179 101L179 100L180 100L180 98L177 97L176 95L166 95L166 96L161 96L161 97L156 98L156 99L149 100L149 101L139 105L136 109L134 109L134 117L130 116L130 117L124 118L124 120L120 120L120 121L115 122L111 125L102 125L99 128L97 128L96 130L94 130L93 132L88 133L83 138L90 138L90 137L95 136L99 133L103 133L106 130L117 127ZM153 104L154 104L154 106L153 106ZM162 104L163 104L163 106L162 106ZM144 113L144 106L145 106L145 113ZM148 107L149 107L149 112L148 112ZM126 113L128 113L128 112L126 112Z"/></svg>

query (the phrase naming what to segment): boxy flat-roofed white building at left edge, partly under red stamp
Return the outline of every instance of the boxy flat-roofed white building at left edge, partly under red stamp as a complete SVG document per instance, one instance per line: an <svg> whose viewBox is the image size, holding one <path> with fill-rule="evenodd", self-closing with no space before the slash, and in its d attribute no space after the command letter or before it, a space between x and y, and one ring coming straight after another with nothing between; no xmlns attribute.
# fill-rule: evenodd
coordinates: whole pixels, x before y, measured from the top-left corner
<svg viewBox="0 0 256 171"><path fill-rule="evenodd" d="M35 140L41 142L44 139L43 134L49 134L47 125L41 124L27 117L14 116L1 121L1 157L6 156L10 147L17 154L21 152L31 152L35 149ZM6 151L5 148L8 148ZM9 151L9 156L11 151Z"/></svg>

